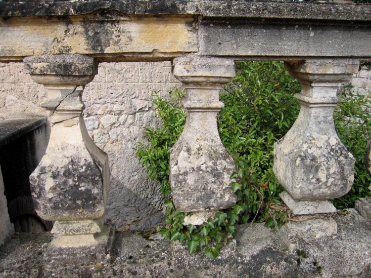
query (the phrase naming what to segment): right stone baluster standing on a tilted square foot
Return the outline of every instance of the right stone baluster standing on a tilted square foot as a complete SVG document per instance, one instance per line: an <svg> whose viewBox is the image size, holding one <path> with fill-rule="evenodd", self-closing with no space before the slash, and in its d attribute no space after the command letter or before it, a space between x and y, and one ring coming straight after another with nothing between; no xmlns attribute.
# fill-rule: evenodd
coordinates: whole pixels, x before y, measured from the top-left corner
<svg viewBox="0 0 371 278"><path fill-rule="evenodd" d="M352 59L285 63L301 84L295 95L301 109L291 129L275 144L273 169L287 191L280 196L294 215L336 212L328 199L339 198L352 187L355 159L336 134L333 110L338 90L358 66ZM333 219L316 221L312 224L322 232L315 232L315 237L336 233ZM307 229L305 223L295 225Z"/></svg>

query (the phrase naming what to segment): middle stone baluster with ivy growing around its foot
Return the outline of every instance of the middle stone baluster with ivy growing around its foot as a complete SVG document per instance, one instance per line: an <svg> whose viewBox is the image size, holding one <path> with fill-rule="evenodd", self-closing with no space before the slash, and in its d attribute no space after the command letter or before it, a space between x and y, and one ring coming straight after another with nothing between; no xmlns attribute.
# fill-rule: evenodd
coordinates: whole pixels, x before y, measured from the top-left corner
<svg viewBox="0 0 371 278"><path fill-rule="evenodd" d="M224 107L219 92L235 75L234 61L189 54L174 59L173 74L186 88L182 104L187 112L183 133L170 153L173 200L183 212L199 212L185 223L201 224L208 212L236 200L230 187L234 162L217 127L217 114Z"/></svg>

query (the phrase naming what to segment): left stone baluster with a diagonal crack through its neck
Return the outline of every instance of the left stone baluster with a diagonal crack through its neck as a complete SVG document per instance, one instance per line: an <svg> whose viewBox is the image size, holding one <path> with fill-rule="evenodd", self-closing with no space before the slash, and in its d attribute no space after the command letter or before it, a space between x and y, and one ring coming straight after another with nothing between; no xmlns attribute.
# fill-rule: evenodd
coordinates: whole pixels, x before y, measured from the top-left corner
<svg viewBox="0 0 371 278"><path fill-rule="evenodd" d="M26 57L24 63L48 94L41 106L49 110L50 139L30 176L37 213L55 221L44 259L95 264L106 258L110 229L102 225L108 157L93 143L82 116L81 93L96 73L94 60L80 54L43 55Z"/></svg>

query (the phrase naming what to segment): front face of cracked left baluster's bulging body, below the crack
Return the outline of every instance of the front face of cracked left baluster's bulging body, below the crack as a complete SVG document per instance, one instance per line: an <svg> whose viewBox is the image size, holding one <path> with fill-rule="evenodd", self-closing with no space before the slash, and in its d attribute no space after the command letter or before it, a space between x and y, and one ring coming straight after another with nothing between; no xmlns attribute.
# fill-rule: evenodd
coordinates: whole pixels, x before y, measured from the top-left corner
<svg viewBox="0 0 371 278"><path fill-rule="evenodd" d="M94 219L104 213L101 172L84 145L81 124L68 130L63 122L53 125L46 154L30 176L36 211L46 220Z"/></svg>

